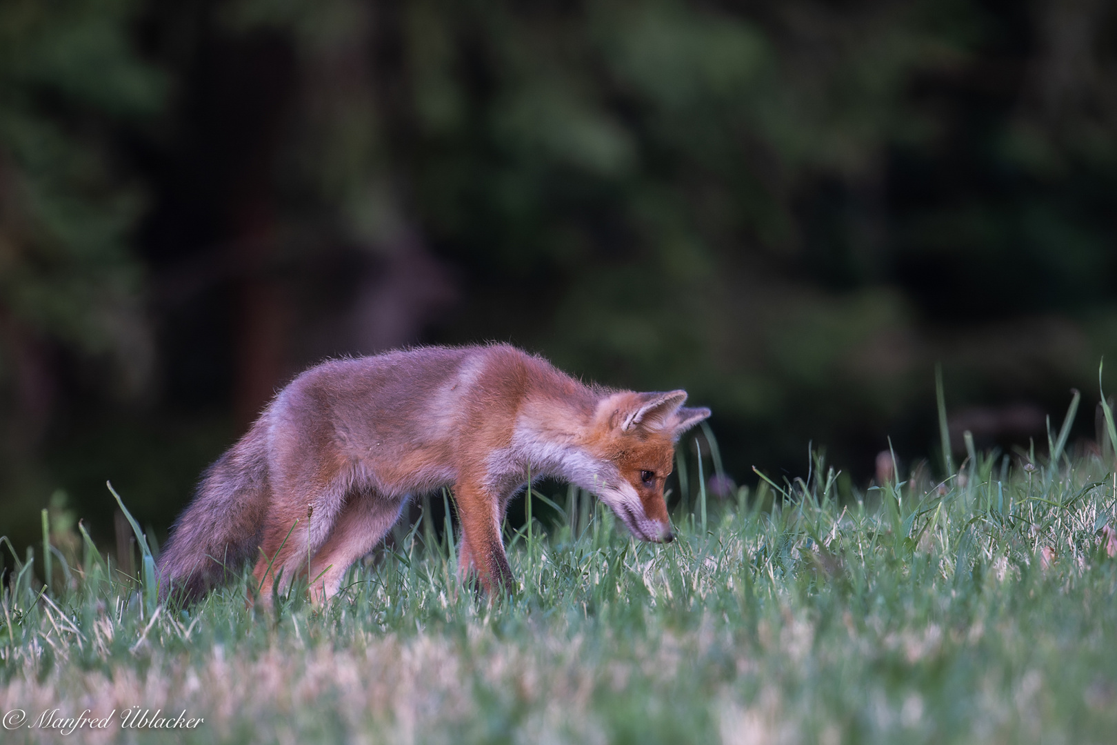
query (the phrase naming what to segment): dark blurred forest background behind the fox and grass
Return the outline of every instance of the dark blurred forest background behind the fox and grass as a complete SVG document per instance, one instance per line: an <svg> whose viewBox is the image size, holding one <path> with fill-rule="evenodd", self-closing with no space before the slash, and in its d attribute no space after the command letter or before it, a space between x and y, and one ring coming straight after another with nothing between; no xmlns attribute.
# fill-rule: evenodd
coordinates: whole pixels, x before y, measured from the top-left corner
<svg viewBox="0 0 1117 745"><path fill-rule="evenodd" d="M428 342L686 388L742 484L938 468L936 363L955 448L1088 447L1115 249L1105 0L0 0L0 534L163 538Z"/></svg>

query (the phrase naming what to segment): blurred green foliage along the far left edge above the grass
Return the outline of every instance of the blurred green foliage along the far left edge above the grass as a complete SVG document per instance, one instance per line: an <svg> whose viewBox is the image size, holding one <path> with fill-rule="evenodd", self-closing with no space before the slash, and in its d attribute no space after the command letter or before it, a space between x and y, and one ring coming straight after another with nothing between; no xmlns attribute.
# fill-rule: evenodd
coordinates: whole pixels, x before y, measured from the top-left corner
<svg viewBox="0 0 1117 745"><path fill-rule="evenodd" d="M17 539L58 486L41 442L67 394L118 402L152 382L132 245L146 190L120 144L157 114L166 80L134 49L134 12L0 3L0 509Z"/></svg>

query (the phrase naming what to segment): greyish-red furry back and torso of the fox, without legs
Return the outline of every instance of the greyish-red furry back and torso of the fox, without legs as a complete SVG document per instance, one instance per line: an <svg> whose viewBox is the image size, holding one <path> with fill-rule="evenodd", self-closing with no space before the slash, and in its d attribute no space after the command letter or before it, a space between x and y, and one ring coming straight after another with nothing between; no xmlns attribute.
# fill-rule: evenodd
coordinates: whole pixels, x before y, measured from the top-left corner
<svg viewBox="0 0 1117 745"><path fill-rule="evenodd" d="M548 380L567 393L582 388L508 345L333 360L277 395L266 414L271 450L288 462L336 458L389 491L437 487L471 450L507 445L523 398Z"/></svg>

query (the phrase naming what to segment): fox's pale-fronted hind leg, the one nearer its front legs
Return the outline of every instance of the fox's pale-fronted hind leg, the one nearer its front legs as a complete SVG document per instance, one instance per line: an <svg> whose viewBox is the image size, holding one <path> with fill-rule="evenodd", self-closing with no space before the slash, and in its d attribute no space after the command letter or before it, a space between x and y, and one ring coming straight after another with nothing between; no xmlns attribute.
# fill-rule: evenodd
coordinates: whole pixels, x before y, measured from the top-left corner
<svg viewBox="0 0 1117 745"><path fill-rule="evenodd" d="M405 497L391 499L371 489L346 495L333 532L311 561L311 596L316 602L337 594L350 565L380 543L405 504Z"/></svg>

